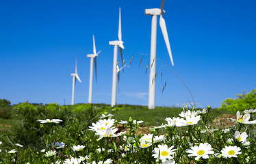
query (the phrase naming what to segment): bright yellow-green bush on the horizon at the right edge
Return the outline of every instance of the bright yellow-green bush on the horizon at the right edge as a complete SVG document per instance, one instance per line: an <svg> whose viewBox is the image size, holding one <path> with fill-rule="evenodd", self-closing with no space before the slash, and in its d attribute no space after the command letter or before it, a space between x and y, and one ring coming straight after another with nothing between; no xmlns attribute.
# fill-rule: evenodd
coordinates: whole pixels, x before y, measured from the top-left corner
<svg viewBox="0 0 256 164"><path fill-rule="evenodd" d="M229 111L244 111L244 109L256 109L256 89L250 93L237 94L238 98L227 98L222 102L220 109Z"/></svg>

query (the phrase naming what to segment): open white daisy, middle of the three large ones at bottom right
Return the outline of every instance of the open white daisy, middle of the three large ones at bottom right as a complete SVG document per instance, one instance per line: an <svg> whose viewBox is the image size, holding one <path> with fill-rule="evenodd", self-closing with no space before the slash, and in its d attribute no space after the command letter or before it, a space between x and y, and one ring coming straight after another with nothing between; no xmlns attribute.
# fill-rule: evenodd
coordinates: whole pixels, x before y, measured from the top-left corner
<svg viewBox="0 0 256 164"><path fill-rule="evenodd" d="M209 154L214 154L212 146L209 143L200 143L199 146L192 146L187 152L190 153L188 156L196 156L196 161L201 157L203 159L208 159Z"/></svg>

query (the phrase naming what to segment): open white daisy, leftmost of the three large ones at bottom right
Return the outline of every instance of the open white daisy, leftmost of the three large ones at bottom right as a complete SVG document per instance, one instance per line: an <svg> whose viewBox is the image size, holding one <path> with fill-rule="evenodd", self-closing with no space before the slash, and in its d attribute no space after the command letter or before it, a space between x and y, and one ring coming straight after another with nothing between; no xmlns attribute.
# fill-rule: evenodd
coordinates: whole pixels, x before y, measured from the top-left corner
<svg viewBox="0 0 256 164"><path fill-rule="evenodd" d="M159 145L158 148L154 148L153 150L153 157L158 162L161 160L163 163L166 162L166 159L173 159L172 154L175 154L176 149L172 149L174 146L168 148L167 145Z"/></svg>

